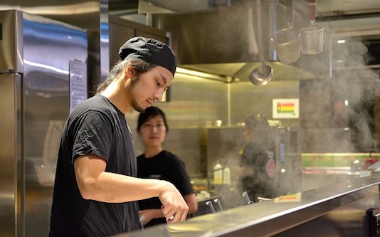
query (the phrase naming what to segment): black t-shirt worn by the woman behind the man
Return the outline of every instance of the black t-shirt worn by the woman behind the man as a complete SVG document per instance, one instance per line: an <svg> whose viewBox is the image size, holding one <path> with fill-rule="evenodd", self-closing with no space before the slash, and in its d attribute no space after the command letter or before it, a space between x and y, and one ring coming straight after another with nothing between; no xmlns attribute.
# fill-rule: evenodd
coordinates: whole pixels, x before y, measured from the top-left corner
<svg viewBox="0 0 380 237"><path fill-rule="evenodd" d="M139 178L162 179L174 184L182 196L193 194L193 187L186 173L184 162L174 154L163 150L154 157L146 158L144 154L137 157L137 176ZM139 209L161 209L161 201L154 197L139 201ZM145 225L153 226L167 223L165 218L155 218Z"/></svg>

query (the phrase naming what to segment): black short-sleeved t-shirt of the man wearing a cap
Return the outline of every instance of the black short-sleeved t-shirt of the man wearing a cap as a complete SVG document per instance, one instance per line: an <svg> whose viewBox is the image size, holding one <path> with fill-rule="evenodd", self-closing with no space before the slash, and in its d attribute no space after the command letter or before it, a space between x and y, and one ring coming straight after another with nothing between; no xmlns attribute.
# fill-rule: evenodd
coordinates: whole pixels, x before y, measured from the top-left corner
<svg viewBox="0 0 380 237"><path fill-rule="evenodd" d="M63 130L51 210L50 236L112 236L142 228L138 203L104 203L80 195L73 169L81 155L107 161L106 172L137 176L132 133L125 116L107 98L80 103Z"/></svg>

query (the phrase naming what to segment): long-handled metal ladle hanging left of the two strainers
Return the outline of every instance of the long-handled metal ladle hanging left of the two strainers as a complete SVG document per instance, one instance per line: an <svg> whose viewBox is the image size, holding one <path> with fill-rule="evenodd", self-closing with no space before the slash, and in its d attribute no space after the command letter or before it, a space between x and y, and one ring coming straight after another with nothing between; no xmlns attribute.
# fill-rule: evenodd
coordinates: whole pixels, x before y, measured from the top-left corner
<svg viewBox="0 0 380 237"><path fill-rule="evenodd" d="M269 65L265 65L264 46L263 46L263 29L261 26L261 0L257 0L258 11L258 46L260 53L261 65L253 69L249 74L249 80L254 85L267 85L273 78L273 69Z"/></svg>

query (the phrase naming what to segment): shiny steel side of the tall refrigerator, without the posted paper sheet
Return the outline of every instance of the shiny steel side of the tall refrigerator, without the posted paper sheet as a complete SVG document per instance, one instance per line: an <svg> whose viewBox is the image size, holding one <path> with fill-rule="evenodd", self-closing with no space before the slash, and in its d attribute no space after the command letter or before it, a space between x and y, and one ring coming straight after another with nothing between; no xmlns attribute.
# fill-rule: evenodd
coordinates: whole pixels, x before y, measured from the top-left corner
<svg viewBox="0 0 380 237"><path fill-rule="evenodd" d="M86 63L87 54L85 30L23 14L26 236L48 235L58 144L69 114L69 62Z"/></svg>

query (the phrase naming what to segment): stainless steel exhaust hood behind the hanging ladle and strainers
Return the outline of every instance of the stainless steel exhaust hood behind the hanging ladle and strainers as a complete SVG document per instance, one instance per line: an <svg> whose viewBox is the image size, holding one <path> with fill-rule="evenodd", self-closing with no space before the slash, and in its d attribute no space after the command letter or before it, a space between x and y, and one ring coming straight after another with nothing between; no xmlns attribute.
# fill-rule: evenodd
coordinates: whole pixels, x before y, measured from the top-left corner
<svg viewBox="0 0 380 237"><path fill-rule="evenodd" d="M171 33L171 46L177 53L179 67L218 75L228 83L249 81L250 72L260 65L255 1L226 1L229 4L220 6L216 6L216 1L209 1L209 7L203 4L199 11L172 11L181 9L180 2L176 1L176 9L167 6L171 13L155 12L152 16L154 27ZM273 80L315 79L318 75L310 68L297 62L286 65L277 60L270 38L288 26L285 5L285 1L278 0L262 3L265 62L273 68ZM157 6L165 8L162 1ZM139 9L141 11L144 9ZM295 1L295 28L310 24L308 14L307 2Z"/></svg>

